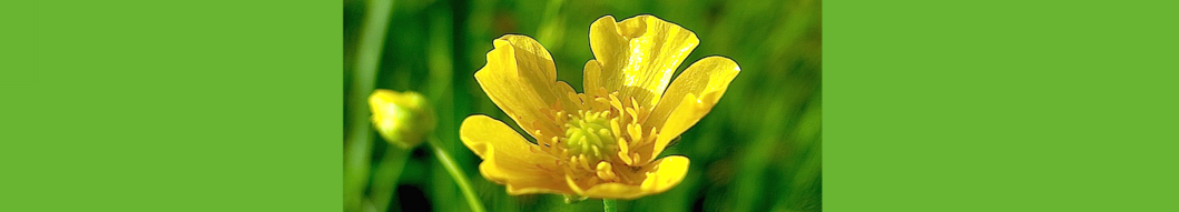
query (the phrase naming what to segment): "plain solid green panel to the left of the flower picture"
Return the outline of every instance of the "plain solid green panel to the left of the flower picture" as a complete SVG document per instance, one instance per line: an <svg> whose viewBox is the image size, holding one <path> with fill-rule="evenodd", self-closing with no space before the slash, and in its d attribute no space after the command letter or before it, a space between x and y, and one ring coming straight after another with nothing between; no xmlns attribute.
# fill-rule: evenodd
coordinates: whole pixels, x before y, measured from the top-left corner
<svg viewBox="0 0 1179 212"><path fill-rule="evenodd" d="M342 210L340 1L9 8L0 211Z"/></svg>

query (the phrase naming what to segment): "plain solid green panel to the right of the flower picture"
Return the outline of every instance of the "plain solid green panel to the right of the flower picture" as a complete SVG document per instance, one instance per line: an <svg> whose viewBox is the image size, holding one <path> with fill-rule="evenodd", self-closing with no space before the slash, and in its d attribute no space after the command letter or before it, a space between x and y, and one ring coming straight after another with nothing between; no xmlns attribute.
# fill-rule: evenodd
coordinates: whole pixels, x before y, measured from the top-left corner
<svg viewBox="0 0 1179 212"><path fill-rule="evenodd" d="M1174 211L1175 8L824 1L824 211Z"/></svg>

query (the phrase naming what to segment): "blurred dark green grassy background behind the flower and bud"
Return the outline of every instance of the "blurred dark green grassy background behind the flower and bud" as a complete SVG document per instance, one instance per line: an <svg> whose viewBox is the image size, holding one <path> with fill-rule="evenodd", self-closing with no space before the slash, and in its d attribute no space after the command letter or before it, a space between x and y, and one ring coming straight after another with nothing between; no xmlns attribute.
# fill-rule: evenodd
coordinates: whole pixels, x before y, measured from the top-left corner
<svg viewBox="0 0 1179 212"><path fill-rule="evenodd" d="M818 0L344 0L343 14L345 211L469 210L426 144L403 152L371 131L365 99L373 88L428 97L439 115L434 135L488 211L601 211L598 199L508 196L479 174L480 159L457 132L470 114L511 120L473 75L492 40L535 38L553 55L558 80L581 92L581 68L593 58L590 24L607 14L653 14L694 32L700 45L677 74L707 55L742 67L712 112L664 153L691 159L684 181L661 194L620 200L620 211L822 211ZM408 155L404 166L397 155Z"/></svg>

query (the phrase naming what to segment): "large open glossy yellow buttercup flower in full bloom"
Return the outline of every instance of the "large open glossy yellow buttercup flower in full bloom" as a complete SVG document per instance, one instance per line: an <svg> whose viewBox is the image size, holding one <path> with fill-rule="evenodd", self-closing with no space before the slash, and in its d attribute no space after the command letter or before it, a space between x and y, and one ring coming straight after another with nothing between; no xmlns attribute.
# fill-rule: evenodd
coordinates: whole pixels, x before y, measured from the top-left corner
<svg viewBox="0 0 1179 212"><path fill-rule="evenodd" d="M556 81L539 42L500 37L475 79L535 143L481 114L462 121L462 143L483 159L480 173L511 194L634 199L667 191L687 174L689 160L656 157L707 114L740 72L727 58L707 57L668 86L698 42L656 16L602 16L590 26L595 60L586 62L578 93Z"/></svg>

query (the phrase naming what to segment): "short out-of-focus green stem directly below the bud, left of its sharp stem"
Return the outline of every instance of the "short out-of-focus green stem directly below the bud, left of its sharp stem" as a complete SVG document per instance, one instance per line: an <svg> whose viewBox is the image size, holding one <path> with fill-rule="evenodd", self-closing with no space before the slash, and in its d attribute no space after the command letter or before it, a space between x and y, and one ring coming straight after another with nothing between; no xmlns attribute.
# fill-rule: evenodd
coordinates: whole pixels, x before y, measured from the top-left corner
<svg viewBox="0 0 1179 212"><path fill-rule="evenodd" d="M389 145L384 155L381 157L381 164L377 164L376 170L373 171L373 193L369 197L373 198L375 211L389 211L389 203L394 191L396 191L401 171L404 170L406 161L409 159L409 151Z"/></svg>

